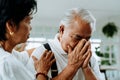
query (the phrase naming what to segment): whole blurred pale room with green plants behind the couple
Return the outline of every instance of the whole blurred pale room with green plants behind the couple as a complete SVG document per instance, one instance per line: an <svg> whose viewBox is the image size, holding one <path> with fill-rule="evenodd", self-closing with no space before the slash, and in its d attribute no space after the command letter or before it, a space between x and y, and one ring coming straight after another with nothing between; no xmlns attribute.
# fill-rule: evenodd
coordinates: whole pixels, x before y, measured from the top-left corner
<svg viewBox="0 0 120 80"><path fill-rule="evenodd" d="M120 80L120 0L37 0L38 11L25 49L53 39L59 22L70 8L85 8L95 16L96 31L91 38L93 55L100 64L103 80ZM18 49L21 45L18 45Z"/></svg>

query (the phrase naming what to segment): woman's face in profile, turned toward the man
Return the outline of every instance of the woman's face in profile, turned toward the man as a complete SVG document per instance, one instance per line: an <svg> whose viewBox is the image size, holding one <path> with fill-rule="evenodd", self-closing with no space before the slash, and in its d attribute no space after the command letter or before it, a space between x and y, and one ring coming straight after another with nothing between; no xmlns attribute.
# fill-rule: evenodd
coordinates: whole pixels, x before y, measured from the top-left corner
<svg viewBox="0 0 120 80"><path fill-rule="evenodd" d="M31 28L31 16L26 16L18 25L18 29L14 32L13 41L17 44L27 41L30 35Z"/></svg>

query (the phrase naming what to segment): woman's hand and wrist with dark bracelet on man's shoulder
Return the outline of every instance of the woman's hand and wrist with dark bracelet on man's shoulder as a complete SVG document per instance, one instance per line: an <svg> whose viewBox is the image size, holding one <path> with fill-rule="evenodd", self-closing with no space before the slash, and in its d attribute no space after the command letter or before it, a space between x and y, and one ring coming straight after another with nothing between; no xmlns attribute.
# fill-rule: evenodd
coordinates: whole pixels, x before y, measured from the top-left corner
<svg viewBox="0 0 120 80"><path fill-rule="evenodd" d="M41 56L40 60L38 60L36 57L32 56L34 61L35 70L37 72L36 79L37 80L47 80L47 74L48 71L55 62L55 59L52 58L53 53L51 51L45 50L43 55Z"/></svg>

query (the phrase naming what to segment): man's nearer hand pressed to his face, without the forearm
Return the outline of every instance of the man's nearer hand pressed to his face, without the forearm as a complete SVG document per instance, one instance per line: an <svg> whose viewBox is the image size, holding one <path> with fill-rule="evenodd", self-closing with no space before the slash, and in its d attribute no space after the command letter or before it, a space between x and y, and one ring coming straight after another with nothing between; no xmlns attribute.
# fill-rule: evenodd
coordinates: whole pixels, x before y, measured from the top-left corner
<svg viewBox="0 0 120 80"><path fill-rule="evenodd" d="M79 69L80 67L86 67L91 57L91 50L89 49L90 42L82 39L76 45L74 50L68 46L68 65Z"/></svg>

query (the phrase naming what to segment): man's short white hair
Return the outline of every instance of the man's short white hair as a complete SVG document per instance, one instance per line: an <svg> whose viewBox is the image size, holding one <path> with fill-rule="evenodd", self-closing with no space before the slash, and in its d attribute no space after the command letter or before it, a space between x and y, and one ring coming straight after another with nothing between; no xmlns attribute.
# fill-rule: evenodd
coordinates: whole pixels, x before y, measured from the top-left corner
<svg viewBox="0 0 120 80"><path fill-rule="evenodd" d="M90 24L92 32L95 30L96 19L92 13L86 9L72 8L65 13L64 18L60 21L60 25L65 27L69 26L74 22L75 18L78 17Z"/></svg>

